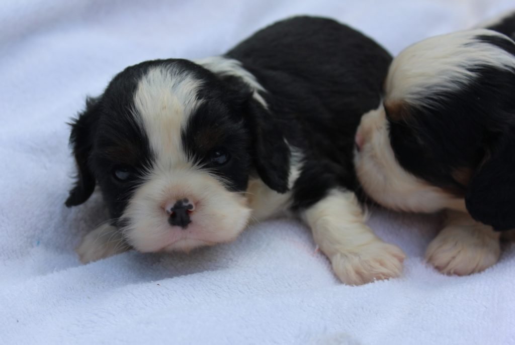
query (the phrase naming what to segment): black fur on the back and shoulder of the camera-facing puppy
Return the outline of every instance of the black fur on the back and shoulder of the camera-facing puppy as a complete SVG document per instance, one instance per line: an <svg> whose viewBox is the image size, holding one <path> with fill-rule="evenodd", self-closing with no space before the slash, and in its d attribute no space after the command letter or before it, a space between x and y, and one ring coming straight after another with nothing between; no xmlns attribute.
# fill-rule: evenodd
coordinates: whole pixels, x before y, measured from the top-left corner
<svg viewBox="0 0 515 345"><path fill-rule="evenodd" d="M296 17L255 33L227 56L241 61L267 90L270 115L261 119L276 134L265 137L273 150L262 154L268 150L281 172L283 188L276 190L286 186L282 136L304 155L294 208L311 206L334 187L356 190L354 134L361 116L379 105L389 53L348 26Z"/></svg>

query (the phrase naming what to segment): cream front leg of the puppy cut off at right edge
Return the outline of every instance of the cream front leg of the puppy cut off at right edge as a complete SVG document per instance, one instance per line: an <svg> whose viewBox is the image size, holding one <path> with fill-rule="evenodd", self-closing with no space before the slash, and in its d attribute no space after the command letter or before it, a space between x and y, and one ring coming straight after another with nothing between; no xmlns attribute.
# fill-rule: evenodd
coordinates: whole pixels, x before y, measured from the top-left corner
<svg viewBox="0 0 515 345"><path fill-rule="evenodd" d="M445 227L427 247L425 258L441 273L466 276L499 260L499 232L464 212L447 211Z"/></svg>

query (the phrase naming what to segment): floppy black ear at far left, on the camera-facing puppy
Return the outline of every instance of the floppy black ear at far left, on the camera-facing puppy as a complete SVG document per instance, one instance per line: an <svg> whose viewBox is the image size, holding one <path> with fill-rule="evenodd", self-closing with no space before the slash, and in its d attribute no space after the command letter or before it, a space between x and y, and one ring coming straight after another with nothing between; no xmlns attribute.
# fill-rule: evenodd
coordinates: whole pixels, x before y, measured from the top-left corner
<svg viewBox="0 0 515 345"><path fill-rule="evenodd" d="M88 160L93 146L92 133L98 119L98 106L98 99L88 97L86 110L71 123L70 144L77 163L77 180L66 199L67 207L82 204L95 190L95 178L88 166Z"/></svg>

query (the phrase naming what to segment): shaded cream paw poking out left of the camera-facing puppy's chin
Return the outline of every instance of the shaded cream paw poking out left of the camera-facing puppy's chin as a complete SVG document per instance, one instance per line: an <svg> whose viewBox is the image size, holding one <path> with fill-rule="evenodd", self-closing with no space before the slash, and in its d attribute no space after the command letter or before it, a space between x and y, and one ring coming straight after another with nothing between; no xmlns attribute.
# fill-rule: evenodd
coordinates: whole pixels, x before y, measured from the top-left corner
<svg viewBox="0 0 515 345"><path fill-rule="evenodd" d="M116 227L104 224L84 236L75 251L82 263L108 258L130 249Z"/></svg>

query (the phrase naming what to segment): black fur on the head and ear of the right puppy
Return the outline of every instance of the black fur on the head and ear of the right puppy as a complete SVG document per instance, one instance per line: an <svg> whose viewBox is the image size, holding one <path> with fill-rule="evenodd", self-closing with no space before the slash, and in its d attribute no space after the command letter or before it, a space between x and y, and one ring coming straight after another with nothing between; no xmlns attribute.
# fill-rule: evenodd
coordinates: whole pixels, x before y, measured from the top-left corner
<svg viewBox="0 0 515 345"><path fill-rule="evenodd" d="M515 56L515 43L481 35L478 42ZM496 230L515 228L515 70L479 65L456 92L428 93L409 117L387 114L390 142L401 166L465 197L472 217ZM433 102L431 98L438 100ZM427 104L431 104L428 106ZM453 171L470 171L464 183Z"/></svg>

